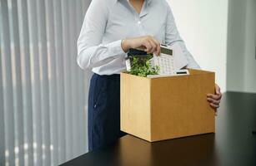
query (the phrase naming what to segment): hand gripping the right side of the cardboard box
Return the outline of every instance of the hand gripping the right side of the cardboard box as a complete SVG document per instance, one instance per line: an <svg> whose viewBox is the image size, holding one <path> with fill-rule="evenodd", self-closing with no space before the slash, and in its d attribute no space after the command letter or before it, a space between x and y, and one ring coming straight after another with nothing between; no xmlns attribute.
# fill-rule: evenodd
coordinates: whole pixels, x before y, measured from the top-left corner
<svg viewBox="0 0 256 166"><path fill-rule="evenodd" d="M217 84L215 84L215 94L207 94L207 100L211 107L215 110L215 115L217 115L217 109L219 107L219 103L221 100L222 94L220 92L220 88Z"/></svg>

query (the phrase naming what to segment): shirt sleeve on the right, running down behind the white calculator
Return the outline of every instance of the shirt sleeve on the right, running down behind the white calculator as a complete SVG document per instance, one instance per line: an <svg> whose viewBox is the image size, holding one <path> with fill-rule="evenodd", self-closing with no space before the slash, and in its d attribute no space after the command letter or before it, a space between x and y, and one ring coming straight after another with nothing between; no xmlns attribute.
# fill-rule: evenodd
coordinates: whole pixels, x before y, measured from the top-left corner
<svg viewBox="0 0 256 166"><path fill-rule="evenodd" d="M181 46L183 50L184 56L186 56L188 60L188 68L192 69L200 69L200 66L198 66L198 63L194 60L191 53L188 51L183 39L180 37L178 33L178 29L175 24L175 20L173 17L173 12L171 8L168 7L168 14L167 14L167 24L166 24L166 33L165 33L165 42L167 45L173 45L174 42L178 42L179 46Z"/></svg>

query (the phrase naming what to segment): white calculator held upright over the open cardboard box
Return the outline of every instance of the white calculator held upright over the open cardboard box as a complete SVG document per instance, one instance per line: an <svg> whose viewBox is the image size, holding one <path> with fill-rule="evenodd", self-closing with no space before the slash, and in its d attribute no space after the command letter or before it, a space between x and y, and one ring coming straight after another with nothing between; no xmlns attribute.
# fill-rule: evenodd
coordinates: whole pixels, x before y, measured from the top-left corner
<svg viewBox="0 0 256 166"><path fill-rule="evenodd" d="M161 44L160 56L153 55L155 66L159 66L160 75L173 75L174 71L174 54L173 50L166 45Z"/></svg>

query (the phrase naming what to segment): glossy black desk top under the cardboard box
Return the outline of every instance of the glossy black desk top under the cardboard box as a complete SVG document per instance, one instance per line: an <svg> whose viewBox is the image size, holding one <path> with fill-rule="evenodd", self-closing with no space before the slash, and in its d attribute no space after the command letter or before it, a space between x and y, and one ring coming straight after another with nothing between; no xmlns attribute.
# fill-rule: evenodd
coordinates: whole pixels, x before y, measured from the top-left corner
<svg viewBox="0 0 256 166"><path fill-rule="evenodd" d="M256 94L223 95L216 134L150 144L126 135L116 143L83 154L63 166L256 166Z"/></svg>

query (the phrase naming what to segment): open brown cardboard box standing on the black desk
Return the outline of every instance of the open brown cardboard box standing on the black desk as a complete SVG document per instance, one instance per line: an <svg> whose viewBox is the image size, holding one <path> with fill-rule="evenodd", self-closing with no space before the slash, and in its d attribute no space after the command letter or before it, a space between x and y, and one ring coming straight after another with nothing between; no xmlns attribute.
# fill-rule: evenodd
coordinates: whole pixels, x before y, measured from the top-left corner
<svg viewBox="0 0 256 166"><path fill-rule="evenodd" d="M144 78L121 73L121 130L149 142L214 133L214 73Z"/></svg>

